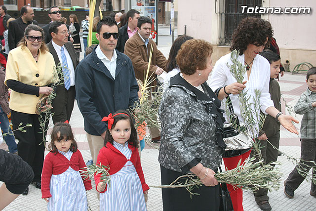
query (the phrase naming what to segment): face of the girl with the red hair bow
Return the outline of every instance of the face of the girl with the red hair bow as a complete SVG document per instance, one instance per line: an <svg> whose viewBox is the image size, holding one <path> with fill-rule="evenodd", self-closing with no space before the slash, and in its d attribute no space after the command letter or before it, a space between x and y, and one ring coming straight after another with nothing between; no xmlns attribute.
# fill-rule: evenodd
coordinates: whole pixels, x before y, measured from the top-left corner
<svg viewBox="0 0 316 211"><path fill-rule="evenodd" d="M115 142L124 144L130 137L131 128L129 121L119 120L110 132Z"/></svg>

